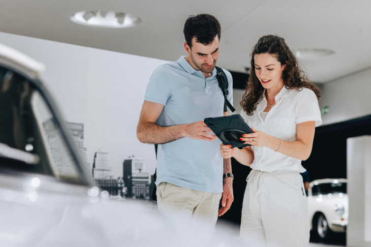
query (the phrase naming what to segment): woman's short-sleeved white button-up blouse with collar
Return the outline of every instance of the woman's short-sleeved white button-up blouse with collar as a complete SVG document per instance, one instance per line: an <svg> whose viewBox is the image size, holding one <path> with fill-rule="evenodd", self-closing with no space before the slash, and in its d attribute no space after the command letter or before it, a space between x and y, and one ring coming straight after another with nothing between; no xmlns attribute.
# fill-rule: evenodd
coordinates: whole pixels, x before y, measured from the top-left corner
<svg viewBox="0 0 371 247"><path fill-rule="evenodd" d="M264 94L265 95L265 94ZM284 141L296 141L296 125L306 121L316 121L316 127L322 124L321 111L314 91L308 88L287 89L285 86L275 96L275 105L265 119L261 112L267 107L265 97L257 104L252 116L241 111L241 116L250 127ZM293 170L304 172L301 160L295 159L268 147L254 147L252 169L266 172Z"/></svg>

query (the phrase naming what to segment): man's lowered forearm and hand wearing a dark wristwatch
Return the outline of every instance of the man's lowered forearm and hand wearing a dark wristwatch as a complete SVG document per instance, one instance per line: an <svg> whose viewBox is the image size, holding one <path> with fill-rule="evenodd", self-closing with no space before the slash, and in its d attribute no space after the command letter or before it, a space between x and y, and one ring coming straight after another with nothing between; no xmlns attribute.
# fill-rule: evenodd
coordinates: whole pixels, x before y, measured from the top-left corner
<svg viewBox="0 0 371 247"><path fill-rule="evenodd" d="M228 111L224 113L224 116L228 116ZM223 159L223 173L232 173L231 158ZM229 210L233 200L233 178L226 177L223 179L222 208L219 209L219 216L222 216Z"/></svg>

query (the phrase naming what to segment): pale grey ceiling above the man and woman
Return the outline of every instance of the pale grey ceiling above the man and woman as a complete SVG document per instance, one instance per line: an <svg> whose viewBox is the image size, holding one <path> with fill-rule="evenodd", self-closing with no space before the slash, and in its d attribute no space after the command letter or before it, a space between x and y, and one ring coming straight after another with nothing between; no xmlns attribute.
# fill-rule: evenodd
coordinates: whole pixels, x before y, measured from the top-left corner
<svg viewBox="0 0 371 247"><path fill-rule="evenodd" d="M84 10L114 10L142 22L111 29L79 25ZM301 59L311 79L327 83L371 68L371 1L357 0L2 0L0 32L176 60L184 51L182 28L189 15L209 13L222 25L218 65L235 72L250 66L250 52L267 34L290 48L330 49L325 57ZM26 44L25 44L26 45Z"/></svg>

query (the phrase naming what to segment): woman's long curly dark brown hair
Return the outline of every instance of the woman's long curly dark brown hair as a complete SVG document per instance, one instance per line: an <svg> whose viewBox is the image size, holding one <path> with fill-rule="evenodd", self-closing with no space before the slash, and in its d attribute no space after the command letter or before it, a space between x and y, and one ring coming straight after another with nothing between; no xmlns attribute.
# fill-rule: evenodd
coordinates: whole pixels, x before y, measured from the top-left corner
<svg viewBox="0 0 371 247"><path fill-rule="evenodd" d="M282 72L282 80L286 88L296 88L300 90L303 87L313 90L317 99L321 98L321 92L318 87L308 78L307 74L302 71L298 65L298 60L290 50L285 40L275 35L263 36L254 46L251 53L251 73L246 84L246 91L242 97L240 105L249 115L253 115L257 103L262 99L264 88L255 74L256 54L268 53L279 60L281 65L287 64L286 69Z"/></svg>

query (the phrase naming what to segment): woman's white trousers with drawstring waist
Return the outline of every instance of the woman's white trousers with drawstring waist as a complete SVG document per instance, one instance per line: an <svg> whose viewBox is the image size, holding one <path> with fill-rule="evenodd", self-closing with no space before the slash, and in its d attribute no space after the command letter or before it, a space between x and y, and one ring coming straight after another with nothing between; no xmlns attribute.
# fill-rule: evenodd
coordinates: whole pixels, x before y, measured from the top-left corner
<svg viewBox="0 0 371 247"><path fill-rule="evenodd" d="M307 199L298 172L250 172L243 197L240 235L262 246L309 245Z"/></svg>

